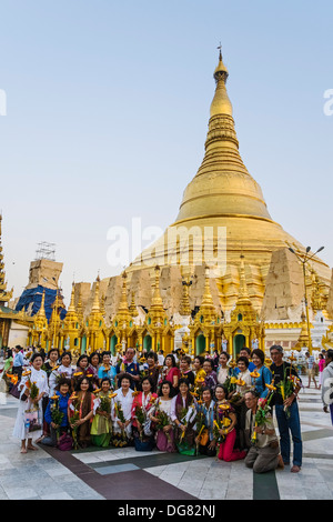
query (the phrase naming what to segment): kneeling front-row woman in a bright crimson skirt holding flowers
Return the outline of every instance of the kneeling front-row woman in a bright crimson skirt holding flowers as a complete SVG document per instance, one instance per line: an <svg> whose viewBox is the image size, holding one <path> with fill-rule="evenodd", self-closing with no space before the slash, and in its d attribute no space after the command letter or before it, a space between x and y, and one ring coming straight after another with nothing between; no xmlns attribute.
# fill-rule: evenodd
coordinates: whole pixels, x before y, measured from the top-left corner
<svg viewBox="0 0 333 522"><path fill-rule="evenodd" d="M236 440L236 414L226 400L226 390L222 384L218 384L215 388L214 420L219 424L224 423L223 428L219 429L221 441L218 458L225 462L244 459L246 451L240 451L234 448Z"/></svg>

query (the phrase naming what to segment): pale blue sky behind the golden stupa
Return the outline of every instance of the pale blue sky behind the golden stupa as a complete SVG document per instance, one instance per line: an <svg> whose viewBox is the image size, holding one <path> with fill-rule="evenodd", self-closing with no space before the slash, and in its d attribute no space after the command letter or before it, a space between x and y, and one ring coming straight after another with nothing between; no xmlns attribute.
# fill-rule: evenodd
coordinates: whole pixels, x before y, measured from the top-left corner
<svg viewBox="0 0 333 522"><path fill-rule="evenodd" d="M9 287L37 243L71 282L119 273L108 230L171 224L204 154L219 42L240 152L272 218L303 244L331 222L331 1L3 0L0 209Z"/></svg>

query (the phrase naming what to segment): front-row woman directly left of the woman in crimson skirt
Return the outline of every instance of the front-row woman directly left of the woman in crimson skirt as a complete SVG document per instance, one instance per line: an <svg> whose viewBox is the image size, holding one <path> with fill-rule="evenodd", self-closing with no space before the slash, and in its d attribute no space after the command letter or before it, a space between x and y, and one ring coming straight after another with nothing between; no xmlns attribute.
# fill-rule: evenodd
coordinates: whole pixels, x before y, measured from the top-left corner
<svg viewBox="0 0 333 522"><path fill-rule="evenodd" d="M214 406L213 392L210 388L202 389L201 400L196 402L196 436L199 453L215 456L216 441L214 439ZM201 424L201 426L200 426Z"/></svg>

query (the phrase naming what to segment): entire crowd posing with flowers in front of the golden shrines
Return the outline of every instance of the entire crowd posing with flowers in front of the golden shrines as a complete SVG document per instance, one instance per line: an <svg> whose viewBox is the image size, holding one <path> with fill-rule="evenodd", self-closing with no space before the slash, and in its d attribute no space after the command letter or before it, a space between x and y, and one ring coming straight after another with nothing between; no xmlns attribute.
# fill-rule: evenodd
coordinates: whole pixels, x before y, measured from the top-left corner
<svg viewBox="0 0 333 522"><path fill-rule="evenodd" d="M330 378L333 350L324 360ZM292 362L284 360L281 345L271 347L269 360L262 350L248 348L235 361L225 351L192 360L180 350L163 357L128 348L118 358L97 351L75 362L70 351L24 354L17 347L7 353L3 379L19 400L13 435L22 453L37 451L36 442L60 450L134 445L226 462L243 459L258 473L285 465L299 472L303 384ZM324 380L324 409L333 421Z"/></svg>

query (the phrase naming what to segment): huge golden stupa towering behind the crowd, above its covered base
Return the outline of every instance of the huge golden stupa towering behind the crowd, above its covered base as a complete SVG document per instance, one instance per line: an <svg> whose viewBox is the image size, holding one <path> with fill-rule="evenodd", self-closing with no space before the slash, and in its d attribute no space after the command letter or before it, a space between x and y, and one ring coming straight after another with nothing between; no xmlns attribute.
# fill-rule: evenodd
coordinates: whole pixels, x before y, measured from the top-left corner
<svg viewBox="0 0 333 522"><path fill-rule="evenodd" d="M242 257L249 294L260 310L272 253L289 245L299 252L305 248L272 219L260 185L242 161L228 77L220 50L203 161L184 190L174 223L131 263L128 274L131 278L138 270L158 264L161 269L179 267L182 277L188 277L200 265L209 267L221 308L231 310L239 295ZM329 288L330 268L317 257L312 262Z"/></svg>

